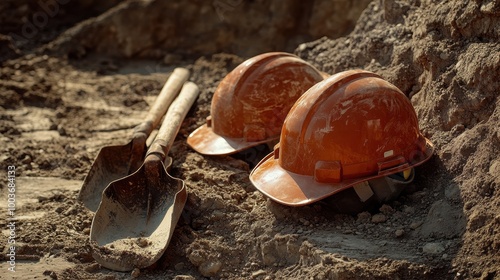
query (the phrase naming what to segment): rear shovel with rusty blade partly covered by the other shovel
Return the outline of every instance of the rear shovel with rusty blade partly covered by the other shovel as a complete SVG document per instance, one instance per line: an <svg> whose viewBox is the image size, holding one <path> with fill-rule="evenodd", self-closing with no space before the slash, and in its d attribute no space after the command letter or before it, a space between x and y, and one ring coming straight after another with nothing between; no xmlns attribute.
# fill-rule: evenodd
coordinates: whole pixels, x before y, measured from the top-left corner
<svg viewBox="0 0 500 280"><path fill-rule="evenodd" d="M131 174L142 164L149 134L158 126L188 77L187 69L176 68L163 86L146 119L135 127L132 140L126 145L107 146L99 151L78 195L78 200L90 211L97 210L102 192L109 183Z"/></svg>

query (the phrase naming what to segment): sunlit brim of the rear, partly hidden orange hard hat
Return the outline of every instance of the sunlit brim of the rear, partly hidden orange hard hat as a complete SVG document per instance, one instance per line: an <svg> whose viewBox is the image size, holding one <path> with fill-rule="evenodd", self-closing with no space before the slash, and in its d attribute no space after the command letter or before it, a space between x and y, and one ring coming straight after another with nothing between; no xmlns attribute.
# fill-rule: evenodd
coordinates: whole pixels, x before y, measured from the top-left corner
<svg viewBox="0 0 500 280"><path fill-rule="evenodd" d="M193 131L187 139L188 145L202 155L230 155L245 149L267 143L274 139L264 141L247 142L245 139L225 138L216 134L206 124Z"/></svg>

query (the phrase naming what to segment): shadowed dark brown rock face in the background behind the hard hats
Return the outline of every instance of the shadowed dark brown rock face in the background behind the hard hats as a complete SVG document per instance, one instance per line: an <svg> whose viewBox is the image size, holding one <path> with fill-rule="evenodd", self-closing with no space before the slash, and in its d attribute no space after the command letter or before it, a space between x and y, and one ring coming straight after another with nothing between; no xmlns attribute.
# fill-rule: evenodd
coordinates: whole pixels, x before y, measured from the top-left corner
<svg viewBox="0 0 500 280"><path fill-rule="evenodd" d="M76 55L97 51L125 57L162 57L170 52L251 56L348 34L369 2L124 1L63 33L52 47Z"/></svg>

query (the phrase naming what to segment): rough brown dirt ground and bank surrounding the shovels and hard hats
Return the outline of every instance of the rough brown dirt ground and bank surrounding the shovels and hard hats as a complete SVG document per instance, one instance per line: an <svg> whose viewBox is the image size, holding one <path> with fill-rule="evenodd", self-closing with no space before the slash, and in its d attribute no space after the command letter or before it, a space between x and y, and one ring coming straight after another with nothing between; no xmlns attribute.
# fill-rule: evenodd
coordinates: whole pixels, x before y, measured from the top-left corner
<svg viewBox="0 0 500 280"><path fill-rule="evenodd" d="M57 2L57 15L46 12L47 22L31 40L16 36L26 37L22 30L40 4L0 4L6 15L0 20L0 279L500 279L499 1L365 1L359 13L345 13L352 26L341 33L306 28L318 24L313 18L319 15L327 26L328 1L314 1L304 11L310 17L292 26L271 5L262 18L271 20L266 28L275 33L262 33L255 49L255 34L238 31L262 26L239 29L230 20L245 11L263 13L266 3L214 1L199 11L213 14L221 22L216 29L228 33L217 33L215 47L184 52L175 51L187 50L183 40L108 37L120 33L114 25L126 24L131 10L144 18L131 34L141 34L149 18L158 32L164 22L141 12L161 10L162 1L62 4L67 2ZM203 5L192 2L191 13L196 4ZM212 32L201 26L200 34ZM172 32L180 36L182 27ZM281 43L266 44L276 34ZM238 36L247 40L244 51L241 43L231 45ZM152 47L144 48L148 42ZM270 50L294 52L331 74L376 72L411 99L436 151L400 197L357 215L339 213L328 201L285 207L248 179L265 147L209 157L187 146L186 137L210 114L223 77ZM128 142L175 67L189 69L201 89L170 151L170 173L185 181L188 200L158 263L111 271L92 258L93 213L77 201L78 191L99 149ZM14 168L11 216L8 171ZM12 217L15 230L9 228ZM8 262L12 232L15 272Z"/></svg>

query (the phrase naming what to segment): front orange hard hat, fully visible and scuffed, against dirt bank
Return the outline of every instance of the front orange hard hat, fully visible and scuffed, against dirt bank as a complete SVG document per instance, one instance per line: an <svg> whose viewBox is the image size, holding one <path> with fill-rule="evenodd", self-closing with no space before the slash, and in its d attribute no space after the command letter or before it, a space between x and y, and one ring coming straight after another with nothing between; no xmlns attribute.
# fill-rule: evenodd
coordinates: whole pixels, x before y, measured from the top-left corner
<svg viewBox="0 0 500 280"><path fill-rule="evenodd" d="M397 87L374 73L350 70L297 100L280 143L252 170L250 180L271 199L300 206L411 169L433 150Z"/></svg>

